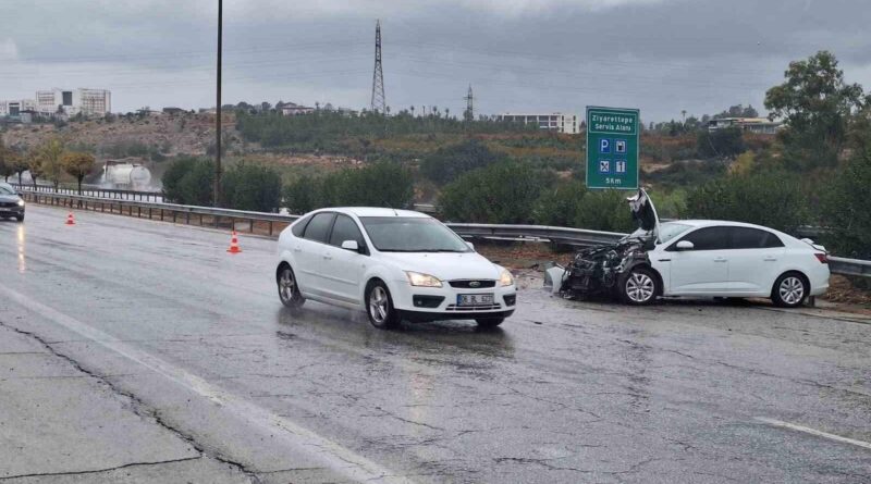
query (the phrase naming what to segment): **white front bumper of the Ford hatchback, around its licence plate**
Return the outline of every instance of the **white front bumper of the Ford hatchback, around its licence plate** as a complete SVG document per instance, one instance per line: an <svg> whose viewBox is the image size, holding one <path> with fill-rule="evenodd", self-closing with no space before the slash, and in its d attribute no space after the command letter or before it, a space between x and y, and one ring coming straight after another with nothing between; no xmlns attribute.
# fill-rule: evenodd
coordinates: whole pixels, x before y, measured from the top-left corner
<svg viewBox="0 0 871 484"><path fill-rule="evenodd" d="M455 285L463 283L453 282ZM407 319L475 319L507 318L517 303L517 288L514 285L493 287L454 287L452 282L443 282L442 287L412 286L408 281L394 281L391 296L393 307ZM491 306L459 306L458 297L465 294L492 294Z"/></svg>

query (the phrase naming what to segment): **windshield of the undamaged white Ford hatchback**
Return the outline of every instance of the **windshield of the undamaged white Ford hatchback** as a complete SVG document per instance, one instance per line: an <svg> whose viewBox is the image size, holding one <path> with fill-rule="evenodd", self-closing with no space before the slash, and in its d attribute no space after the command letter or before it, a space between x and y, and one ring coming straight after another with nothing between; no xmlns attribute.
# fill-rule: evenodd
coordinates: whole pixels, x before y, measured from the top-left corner
<svg viewBox="0 0 871 484"><path fill-rule="evenodd" d="M421 216L361 216L382 252L468 252L466 243L439 221Z"/></svg>

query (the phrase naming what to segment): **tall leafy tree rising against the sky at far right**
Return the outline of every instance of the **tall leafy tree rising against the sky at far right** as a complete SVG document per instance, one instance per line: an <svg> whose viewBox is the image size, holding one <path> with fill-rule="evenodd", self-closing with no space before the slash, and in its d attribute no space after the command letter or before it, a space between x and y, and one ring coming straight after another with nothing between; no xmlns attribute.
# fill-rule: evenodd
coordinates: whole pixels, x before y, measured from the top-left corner
<svg viewBox="0 0 871 484"><path fill-rule="evenodd" d="M849 119L867 104L862 87L844 82L844 71L829 51L789 63L786 82L765 94L769 117L784 117L781 132L787 166L798 170L834 166Z"/></svg>

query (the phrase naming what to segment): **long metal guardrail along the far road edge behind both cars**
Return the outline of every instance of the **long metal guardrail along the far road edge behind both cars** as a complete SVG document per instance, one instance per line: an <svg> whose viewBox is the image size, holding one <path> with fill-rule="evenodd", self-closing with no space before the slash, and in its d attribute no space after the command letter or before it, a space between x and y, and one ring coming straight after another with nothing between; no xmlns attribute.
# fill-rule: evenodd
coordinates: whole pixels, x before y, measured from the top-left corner
<svg viewBox="0 0 871 484"><path fill-rule="evenodd" d="M247 224L249 233L274 236L281 228L293 223L299 215L250 212L213 207L182 206L156 201L107 199L79 195L35 191L24 188L25 200L100 212L119 213L151 220L172 221L200 226L226 226L236 229L240 223ZM126 213L125 213L126 211ZM259 224L259 225L258 225ZM467 238L514 239L552 241L574 246L610 244L626 234L587 231L582 228L547 225L502 225L446 223L451 229ZM871 261L830 257L829 266L834 274L871 277Z"/></svg>

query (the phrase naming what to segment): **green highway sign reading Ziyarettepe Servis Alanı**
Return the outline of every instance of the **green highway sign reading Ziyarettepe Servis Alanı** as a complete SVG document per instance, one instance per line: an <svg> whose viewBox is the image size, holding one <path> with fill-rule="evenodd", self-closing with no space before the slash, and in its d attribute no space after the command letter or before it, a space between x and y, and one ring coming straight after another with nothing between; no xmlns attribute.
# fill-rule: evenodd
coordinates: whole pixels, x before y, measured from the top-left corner
<svg viewBox="0 0 871 484"><path fill-rule="evenodd" d="M638 189L637 109L587 107L587 187Z"/></svg>

